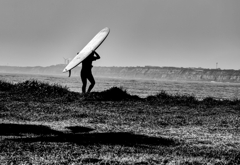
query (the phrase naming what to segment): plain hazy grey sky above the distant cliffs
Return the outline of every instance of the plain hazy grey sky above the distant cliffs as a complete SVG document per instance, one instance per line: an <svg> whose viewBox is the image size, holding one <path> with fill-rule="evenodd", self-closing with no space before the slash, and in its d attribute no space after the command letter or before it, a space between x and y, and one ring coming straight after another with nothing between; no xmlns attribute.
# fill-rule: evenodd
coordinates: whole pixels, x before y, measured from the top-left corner
<svg viewBox="0 0 240 165"><path fill-rule="evenodd" d="M95 66L240 69L240 0L0 0L0 65L64 63L105 27Z"/></svg>

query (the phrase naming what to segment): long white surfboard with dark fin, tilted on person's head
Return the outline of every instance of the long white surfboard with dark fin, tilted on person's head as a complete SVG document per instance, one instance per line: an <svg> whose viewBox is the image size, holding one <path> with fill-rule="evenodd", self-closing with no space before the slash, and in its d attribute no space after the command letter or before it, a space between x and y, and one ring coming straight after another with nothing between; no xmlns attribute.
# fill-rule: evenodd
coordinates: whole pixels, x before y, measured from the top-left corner
<svg viewBox="0 0 240 165"><path fill-rule="evenodd" d="M71 70L78 66L87 56L89 56L93 51L95 51L101 43L106 39L110 32L108 27L102 29L98 32L93 39L76 55L72 61L63 69L63 72L69 72L69 77L71 76Z"/></svg>

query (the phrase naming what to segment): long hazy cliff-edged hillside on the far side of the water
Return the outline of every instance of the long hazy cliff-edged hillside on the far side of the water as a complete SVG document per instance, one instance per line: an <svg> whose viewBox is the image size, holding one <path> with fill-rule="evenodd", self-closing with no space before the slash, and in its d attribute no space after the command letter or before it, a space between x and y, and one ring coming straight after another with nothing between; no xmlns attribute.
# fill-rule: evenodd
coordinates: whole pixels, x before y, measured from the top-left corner
<svg viewBox="0 0 240 165"><path fill-rule="evenodd" d="M64 64L47 67L17 67L0 66L0 73L28 73L64 75ZM81 68L72 71L73 76L79 76ZM67 73L65 73L66 75ZM94 67L93 74L97 77L131 78L131 79L159 79L183 81L216 81L240 82L240 70L221 70L204 68L177 68L177 67Z"/></svg>

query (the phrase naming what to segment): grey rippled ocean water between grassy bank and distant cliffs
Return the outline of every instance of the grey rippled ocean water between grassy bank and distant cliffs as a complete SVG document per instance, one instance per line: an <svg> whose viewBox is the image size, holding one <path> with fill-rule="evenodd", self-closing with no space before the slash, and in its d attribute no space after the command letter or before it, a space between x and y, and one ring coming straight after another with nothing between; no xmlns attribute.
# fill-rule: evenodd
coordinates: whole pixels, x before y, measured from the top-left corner
<svg viewBox="0 0 240 165"><path fill-rule="evenodd" d="M26 80L38 80L50 84L60 84L67 86L69 90L81 92L80 77L66 77L53 75L32 75L0 73L0 80L18 83ZM213 97L217 99L240 99L240 83L221 82L192 82L192 81L162 81L143 79L120 79L95 77L95 91L107 90L111 87L122 87L131 95L147 97L156 95L162 90L170 94L193 95L198 99ZM88 84L89 85L89 84Z"/></svg>

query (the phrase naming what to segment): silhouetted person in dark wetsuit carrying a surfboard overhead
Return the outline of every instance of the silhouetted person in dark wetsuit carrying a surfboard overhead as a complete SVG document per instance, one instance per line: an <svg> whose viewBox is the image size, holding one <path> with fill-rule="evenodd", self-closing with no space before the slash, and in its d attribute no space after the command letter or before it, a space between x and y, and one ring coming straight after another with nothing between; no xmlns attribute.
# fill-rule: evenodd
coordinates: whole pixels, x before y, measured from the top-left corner
<svg viewBox="0 0 240 165"><path fill-rule="evenodd" d="M77 53L78 54L78 53ZM81 70L81 79L82 79L82 93L86 93L87 80L90 81L90 86L87 90L87 93L90 93L95 85L95 80L92 75L92 62L100 59L100 56L97 52L93 51L87 58L85 58L82 62L82 70Z"/></svg>

